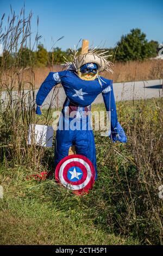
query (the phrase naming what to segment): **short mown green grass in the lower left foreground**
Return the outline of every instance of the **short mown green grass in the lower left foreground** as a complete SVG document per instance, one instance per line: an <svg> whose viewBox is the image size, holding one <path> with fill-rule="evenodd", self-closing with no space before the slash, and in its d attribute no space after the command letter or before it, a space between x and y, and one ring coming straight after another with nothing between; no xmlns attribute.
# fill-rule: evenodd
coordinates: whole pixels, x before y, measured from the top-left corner
<svg viewBox="0 0 163 256"><path fill-rule="evenodd" d="M26 180L28 170L1 168L1 244L14 245L125 245L137 241L114 235L95 224L101 218L96 188L84 197L53 180ZM87 200L93 200L91 205ZM103 204L104 202L101 202ZM99 209L98 209L99 208Z"/></svg>

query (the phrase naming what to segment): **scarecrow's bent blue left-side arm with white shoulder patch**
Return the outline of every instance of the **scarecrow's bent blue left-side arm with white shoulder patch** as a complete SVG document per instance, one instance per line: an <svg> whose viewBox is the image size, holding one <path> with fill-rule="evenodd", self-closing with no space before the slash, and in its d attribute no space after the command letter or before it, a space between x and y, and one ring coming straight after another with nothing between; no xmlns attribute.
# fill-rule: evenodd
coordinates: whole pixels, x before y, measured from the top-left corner
<svg viewBox="0 0 163 256"><path fill-rule="evenodd" d="M54 86L60 83L60 72L49 72L48 76L46 77L45 81L41 84L41 87L36 95L36 114L41 114L40 106L42 105L43 101L45 100L48 93L52 90Z"/></svg>

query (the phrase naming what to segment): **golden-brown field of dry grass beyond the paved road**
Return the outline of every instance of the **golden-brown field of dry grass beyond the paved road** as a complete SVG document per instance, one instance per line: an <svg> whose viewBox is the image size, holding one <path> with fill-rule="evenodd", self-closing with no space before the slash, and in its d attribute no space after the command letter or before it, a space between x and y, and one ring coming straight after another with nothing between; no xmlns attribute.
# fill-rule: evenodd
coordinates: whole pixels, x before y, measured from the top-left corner
<svg viewBox="0 0 163 256"><path fill-rule="evenodd" d="M6 84L9 82L13 83L14 88L18 88L20 80L26 81L23 84L24 89L31 89L31 84L33 88L38 89L41 83L47 77L49 71L61 71L64 66L54 65L44 68L33 68L30 67L26 69L9 69L2 72L2 86L3 90L6 90ZM101 72L100 75L105 78L112 79L114 83L116 82L127 82L127 81L146 81L146 80L156 80L161 79L163 76L163 60L153 59L145 60L143 62L127 62L121 63L117 62L113 66L114 74L109 74L107 72Z"/></svg>

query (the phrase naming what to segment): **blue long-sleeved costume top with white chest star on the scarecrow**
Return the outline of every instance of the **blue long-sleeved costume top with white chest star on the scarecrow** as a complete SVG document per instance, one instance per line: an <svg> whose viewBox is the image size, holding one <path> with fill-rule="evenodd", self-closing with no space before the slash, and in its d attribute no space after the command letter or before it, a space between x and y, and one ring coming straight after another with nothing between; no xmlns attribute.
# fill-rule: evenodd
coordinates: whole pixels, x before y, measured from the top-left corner
<svg viewBox="0 0 163 256"><path fill-rule="evenodd" d="M69 102L78 107L87 107L102 93L106 111L111 112L111 134L112 141L127 142L127 137L117 120L116 103L112 87L112 80L98 76L93 81L79 78L76 72L65 70L60 72L49 72L46 80L36 95L36 113L41 114L40 107L51 89L61 83Z"/></svg>

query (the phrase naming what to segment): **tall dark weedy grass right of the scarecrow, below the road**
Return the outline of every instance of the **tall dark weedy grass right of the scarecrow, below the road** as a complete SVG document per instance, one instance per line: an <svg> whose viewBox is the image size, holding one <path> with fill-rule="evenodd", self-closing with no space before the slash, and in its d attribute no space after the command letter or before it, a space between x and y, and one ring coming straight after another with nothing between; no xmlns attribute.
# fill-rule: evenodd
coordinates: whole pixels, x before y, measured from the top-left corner
<svg viewBox="0 0 163 256"><path fill-rule="evenodd" d="M99 161L110 180L104 189L109 200L108 223L141 242L162 243L162 99L120 102L118 114L127 132L126 145L99 145ZM98 142L97 142L98 143ZM110 194L110 197L109 197Z"/></svg>

